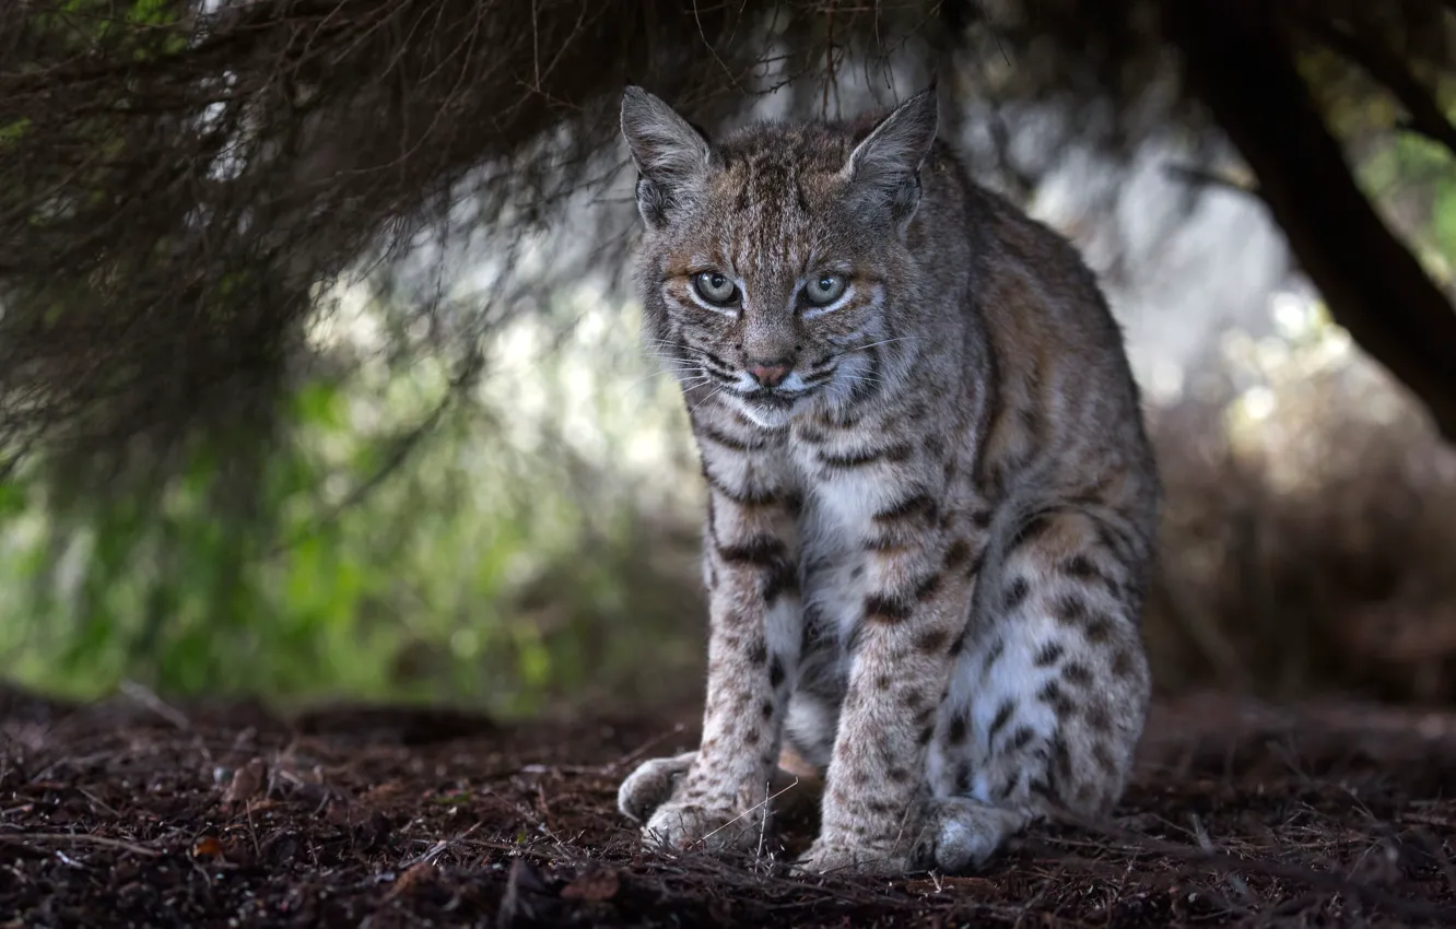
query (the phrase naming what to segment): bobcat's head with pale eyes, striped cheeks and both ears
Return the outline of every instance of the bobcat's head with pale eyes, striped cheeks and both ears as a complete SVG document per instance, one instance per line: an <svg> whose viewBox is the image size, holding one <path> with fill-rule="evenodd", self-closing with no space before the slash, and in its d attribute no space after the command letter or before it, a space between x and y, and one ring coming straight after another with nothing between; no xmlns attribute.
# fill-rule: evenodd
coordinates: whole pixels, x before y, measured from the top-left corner
<svg viewBox="0 0 1456 929"><path fill-rule="evenodd" d="M628 137L649 237L648 335L684 387L772 428L904 377L913 351L887 294L910 277L901 233L933 122L858 144L814 125L709 144L639 103L626 119L639 121Z"/></svg>

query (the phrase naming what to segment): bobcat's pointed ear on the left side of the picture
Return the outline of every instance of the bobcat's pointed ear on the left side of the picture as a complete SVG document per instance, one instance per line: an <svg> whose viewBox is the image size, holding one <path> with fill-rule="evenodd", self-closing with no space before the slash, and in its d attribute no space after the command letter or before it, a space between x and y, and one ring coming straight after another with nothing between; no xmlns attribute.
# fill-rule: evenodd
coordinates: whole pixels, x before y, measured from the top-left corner
<svg viewBox="0 0 1456 929"><path fill-rule="evenodd" d="M636 86L622 95L622 135L638 169L638 210L648 226L662 226L683 195L706 178L712 149L687 119Z"/></svg>

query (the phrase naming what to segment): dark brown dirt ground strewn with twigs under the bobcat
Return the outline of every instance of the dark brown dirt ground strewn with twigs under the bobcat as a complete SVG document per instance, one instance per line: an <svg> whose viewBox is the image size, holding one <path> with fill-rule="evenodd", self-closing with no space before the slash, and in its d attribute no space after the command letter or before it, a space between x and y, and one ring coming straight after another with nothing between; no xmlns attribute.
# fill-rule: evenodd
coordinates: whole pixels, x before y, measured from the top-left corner
<svg viewBox="0 0 1456 929"><path fill-rule="evenodd" d="M0 696L0 926L1366 926L1456 923L1456 713L1158 706L1114 820L980 877L795 879L645 853L616 815L695 713L60 708ZM811 823L786 824L792 852Z"/></svg>

